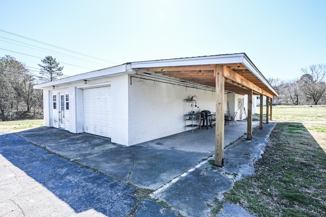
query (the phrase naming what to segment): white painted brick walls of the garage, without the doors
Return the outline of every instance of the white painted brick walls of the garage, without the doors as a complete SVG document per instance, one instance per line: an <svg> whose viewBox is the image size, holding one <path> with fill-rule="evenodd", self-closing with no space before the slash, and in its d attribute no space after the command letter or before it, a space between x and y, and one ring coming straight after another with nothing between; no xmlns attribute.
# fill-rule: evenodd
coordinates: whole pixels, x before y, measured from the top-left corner
<svg viewBox="0 0 326 217"><path fill-rule="evenodd" d="M152 79L152 80L150 80ZM194 95L197 100L195 112L209 110L215 112L215 91L200 88L184 87L183 84L149 78L142 75L120 75L110 78L89 80L88 84L79 82L63 85L53 93L65 91L69 93L69 112L67 129L73 133L84 132L83 88L88 85L111 84L111 141L126 146L167 137L183 132L184 114L191 111L191 103L185 103ZM44 124L52 126L52 89L44 90ZM229 108L237 106L236 94L226 94ZM59 98L58 98L59 106ZM47 112L46 112L47 111ZM55 116L55 114L53 115ZM110 120L109 119L109 120ZM53 125L58 127L56 125ZM192 128L187 127L186 130Z"/></svg>

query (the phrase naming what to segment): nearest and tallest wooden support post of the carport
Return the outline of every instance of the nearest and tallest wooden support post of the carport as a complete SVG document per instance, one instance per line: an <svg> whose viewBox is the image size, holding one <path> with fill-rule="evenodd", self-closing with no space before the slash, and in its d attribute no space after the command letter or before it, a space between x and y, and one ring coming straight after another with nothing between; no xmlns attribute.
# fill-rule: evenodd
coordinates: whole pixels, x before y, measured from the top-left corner
<svg viewBox="0 0 326 217"><path fill-rule="evenodd" d="M224 74L223 67L216 65L214 69L216 85L216 122L215 122L215 165L224 166Z"/></svg>

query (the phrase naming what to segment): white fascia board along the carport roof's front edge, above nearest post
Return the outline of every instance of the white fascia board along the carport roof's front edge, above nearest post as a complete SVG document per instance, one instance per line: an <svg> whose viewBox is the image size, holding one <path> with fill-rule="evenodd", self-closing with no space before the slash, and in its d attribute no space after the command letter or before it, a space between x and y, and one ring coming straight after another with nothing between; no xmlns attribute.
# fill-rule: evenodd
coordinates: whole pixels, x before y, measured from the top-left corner
<svg viewBox="0 0 326 217"><path fill-rule="evenodd" d="M152 67L167 67L167 66L195 66L195 65L210 65L210 64L232 64L242 63L244 53L236 53L232 55L216 55L207 57L192 57L170 60L155 60L145 62L131 63L131 69L137 68L152 68Z"/></svg>

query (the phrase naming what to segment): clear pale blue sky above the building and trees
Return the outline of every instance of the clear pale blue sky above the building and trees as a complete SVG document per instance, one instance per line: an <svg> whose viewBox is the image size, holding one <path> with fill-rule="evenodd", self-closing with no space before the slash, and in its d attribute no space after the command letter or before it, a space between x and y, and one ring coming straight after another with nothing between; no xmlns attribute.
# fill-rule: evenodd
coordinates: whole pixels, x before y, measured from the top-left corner
<svg viewBox="0 0 326 217"><path fill-rule="evenodd" d="M0 32L0 57L11 55L36 71L48 55L61 62L65 75L126 62L239 52L246 52L266 78L296 79L301 68L326 64L324 0L12 0L2 1L1 8L1 30L107 61Z"/></svg>

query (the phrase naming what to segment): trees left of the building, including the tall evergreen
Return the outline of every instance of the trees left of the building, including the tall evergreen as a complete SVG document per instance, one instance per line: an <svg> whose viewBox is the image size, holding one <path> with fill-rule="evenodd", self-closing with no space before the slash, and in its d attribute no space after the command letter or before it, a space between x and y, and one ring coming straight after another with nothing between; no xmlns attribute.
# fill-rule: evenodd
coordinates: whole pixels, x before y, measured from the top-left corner
<svg viewBox="0 0 326 217"><path fill-rule="evenodd" d="M33 119L43 116L43 92L34 85L62 76L63 67L55 58L41 61L40 75L33 75L24 64L6 55L0 59L0 120Z"/></svg>

